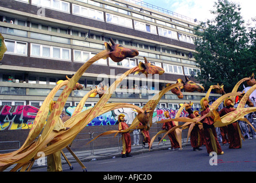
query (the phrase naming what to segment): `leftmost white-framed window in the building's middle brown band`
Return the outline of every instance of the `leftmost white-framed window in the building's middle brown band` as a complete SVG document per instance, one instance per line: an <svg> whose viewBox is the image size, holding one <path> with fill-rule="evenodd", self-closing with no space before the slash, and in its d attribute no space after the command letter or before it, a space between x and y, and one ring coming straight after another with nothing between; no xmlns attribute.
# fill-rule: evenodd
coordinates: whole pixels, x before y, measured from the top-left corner
<svg viewBox="0 0 256 183"><path fill-rule="evenodd" d="M26 42L11 41L11 40L5 39L5 45L7 47L6 53L27 55L28 43L26 43Z"/></svg>

